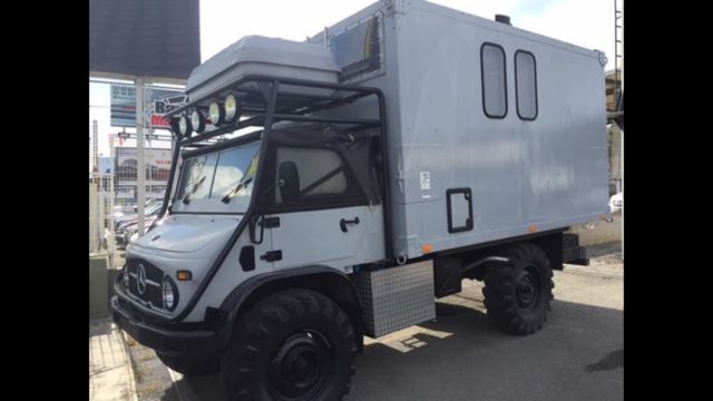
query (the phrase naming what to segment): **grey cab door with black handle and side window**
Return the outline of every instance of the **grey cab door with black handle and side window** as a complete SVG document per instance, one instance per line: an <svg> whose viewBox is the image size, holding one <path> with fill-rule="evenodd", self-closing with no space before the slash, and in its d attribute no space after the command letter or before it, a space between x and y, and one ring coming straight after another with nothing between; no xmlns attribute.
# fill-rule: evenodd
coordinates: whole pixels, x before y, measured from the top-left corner
<svg viewBox="0 0 713 401"><path fill-rule="evenodd" d="M277 147L274 211L266 216L274 268L344 267L383 257L381 205L369 202L336 150Z"/></svg>

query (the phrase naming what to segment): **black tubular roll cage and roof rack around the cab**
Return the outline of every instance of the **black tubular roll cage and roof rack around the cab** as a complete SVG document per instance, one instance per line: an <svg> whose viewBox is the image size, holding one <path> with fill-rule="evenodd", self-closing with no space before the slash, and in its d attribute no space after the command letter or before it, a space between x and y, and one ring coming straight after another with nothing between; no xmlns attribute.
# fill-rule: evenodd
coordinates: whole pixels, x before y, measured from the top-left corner
<svg viewBox="0 0 713 401"><path fill-rule="evenodd" d="M245 88L246 84L255 84L258 89L255 90L253 88ZM332 89L333 94L329 96L323 95L300 95L300 94L291 94L291 92L280 92L281 86L290 86L291 88L301 87L301 88L316 88L316 89ZM207 110L209 104L212 101L218 100L222 101L225 96L234 94L238 99L238 117L247 117L244 119L235 118L234 121L223 125L212 131L197 134L194 133L188 138L183 138L178 133L178 118L183 115L187 115L194 109ZM338 106L343 106L346 104L351 104L359 99L375 96L378 99L379 106L379 118L378 119L365 119L365 118L346 118L346 117L333 117L333 116L320 116L314 115L315 111L326 110ZM273 76L261 76L261 75L252 75L240 78L231 84L227 84L219 89L216 89L196 100L192 100L188 104L176 108L166 115L166 118L170 121L170 131L175 139L174 151L172 155L172 164L170 164L170 174L168 176L168 183L166 185L166 194L164 195L164 203L162 205L160 212L158 213L158 217L156 221L160 219L168 208L168 204L170 202L172 192L174 187L174 179L176 179L176 168L178 164L178 157L180 156L182 149L186 147L204 147L206 150L213 149L213 147L224 147L226 141L217 143L217 144L208 144L207 140L211 138L215 138L223 134L233 133L235 130L245 128L245 127L263 127L262 130L262 144L260 148L260 159L266 159L267 151L267 143L270 139L270 135L272 131L272 126L275 123L280 121L302 121L302 123L325 123L325 124L334 124L334 125L348 125L350 126L350 130L358 131L362 129L369 128L379 128L380 129L380 144L381 144L381 165L379 169L381 169L384 174L383 179L380 180L381 193L382 193L382 211L383 211L383 221L384 221L384 250L385 250L385 261L389 262L393 258L392 256L392 236L391 236L391 203L390 203L390 179L389 179L389 147L388 147L388 136L387 136L387 113L385 113L385 101L383 92L379 88L372 87L362 87L354 85L343 85L343 84L329 84L329 82L319 82L319 81L310 81L303 79L293 79L293 78L281 78ZM247 134L245 136L240 136L237 138L231 139L231 144L240 144L243 141L255 140L256 137L253 134ZM260 183L265 183L263 176L266 174L265 169L267 167L266 163L258 164L257 173L255 180L260 185ZM256 190L258 190L256 188ZM172 319L173 322L179 322L185 319L196 305L203 292L208 286L213 276L217 273L221 264L227 256L229 250L234 245L235 241L240 233L244 229L245 224L250 221L250 217L255 214L257 208L257 196L252 197L247 211L245 213L245 218L241 221L235 232L221 251L216 260L214 261L211 270L208 271L205 280L199 284L197 291L194 293L189 303L186 307L183 309L182 313ZM150 228L149 228L150 229Z"/></svg>

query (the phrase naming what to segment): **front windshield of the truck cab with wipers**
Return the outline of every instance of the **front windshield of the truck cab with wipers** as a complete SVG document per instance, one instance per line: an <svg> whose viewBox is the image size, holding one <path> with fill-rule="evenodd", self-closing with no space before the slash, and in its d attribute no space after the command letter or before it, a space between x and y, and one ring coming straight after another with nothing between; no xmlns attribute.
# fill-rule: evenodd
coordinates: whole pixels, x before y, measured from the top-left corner
<svg viewBox="0 0 713 401"><path fill-rule="evenodd" d="M179 212L244 212L253 193L260 143L187 158L175 205ZM237 190L236 190L237 188ZM232 202L222 202L229 195ZM223 205L223 206L221 206Z"/></svg>

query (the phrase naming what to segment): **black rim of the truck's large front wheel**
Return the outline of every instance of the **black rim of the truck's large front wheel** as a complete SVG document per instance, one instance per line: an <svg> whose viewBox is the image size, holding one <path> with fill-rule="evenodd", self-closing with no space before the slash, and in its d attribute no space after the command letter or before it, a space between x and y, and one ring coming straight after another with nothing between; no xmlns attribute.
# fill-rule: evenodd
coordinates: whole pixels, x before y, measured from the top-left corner
<svg viewBox="0 0 713 401"><path fill-rule="evenodd" d="M284 341L267 370L267 384L280 400L311 400L330 372L329 342L316 330L305 330Z"/></svg>

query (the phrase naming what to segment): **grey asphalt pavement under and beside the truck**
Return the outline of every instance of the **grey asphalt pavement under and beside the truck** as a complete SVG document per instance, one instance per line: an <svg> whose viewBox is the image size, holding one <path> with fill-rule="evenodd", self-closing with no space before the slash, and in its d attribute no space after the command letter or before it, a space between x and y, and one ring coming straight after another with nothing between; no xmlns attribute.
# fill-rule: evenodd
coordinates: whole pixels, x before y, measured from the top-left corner
<svg viewBox="0 0 713 401"><path fill-rule="evenodd" d="M485 315L481 284L439 300L438 320L368 340L349 401L584 401L624 399L624 267L619 254L555 272L553 312L530 336ZM139 400L222 400L215 375L170 372ZM139 385L140 390L140 385Z"/></svg>

